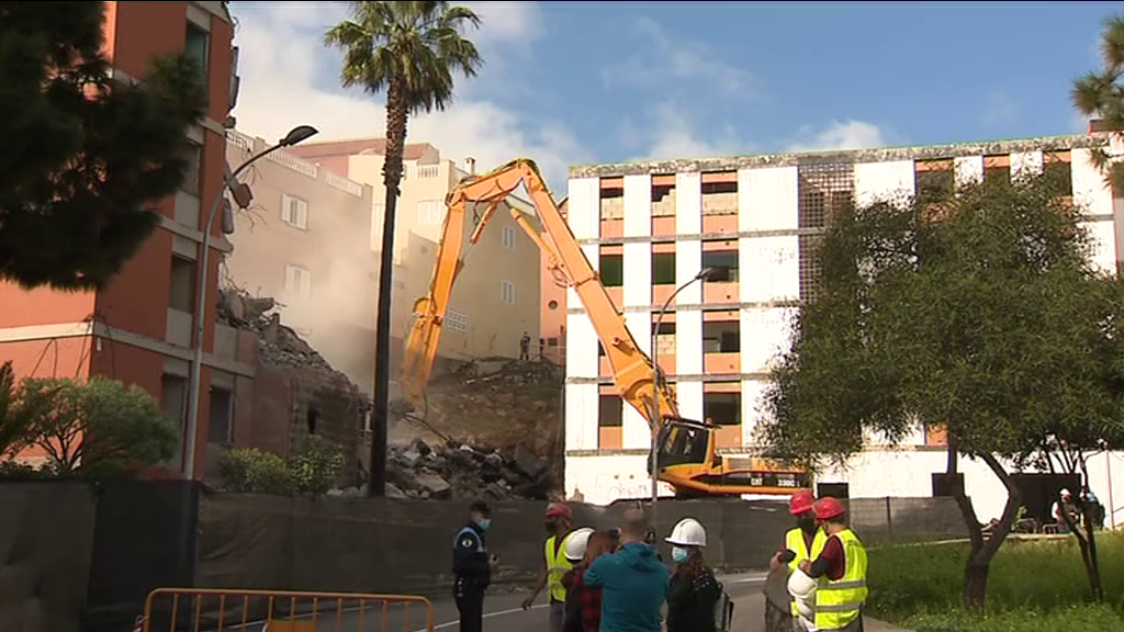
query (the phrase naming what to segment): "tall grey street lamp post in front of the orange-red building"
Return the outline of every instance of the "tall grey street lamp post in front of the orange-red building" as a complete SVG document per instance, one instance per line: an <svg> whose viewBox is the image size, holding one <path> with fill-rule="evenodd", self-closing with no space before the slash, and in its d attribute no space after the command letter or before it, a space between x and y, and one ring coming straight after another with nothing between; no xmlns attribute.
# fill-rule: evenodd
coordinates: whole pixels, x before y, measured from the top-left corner
<svg viewBox="0 0 1124 632"><path fill-rule="evenodd" d="M278 144L250 156L250 160L239 164L237 169L227 174L223 187L215 193L210 210L207 213L207 225L203 228L203 240L200 246L202 254L199 256L199 273L196 274L199 278L196 291L198 300L196 301L196 313L192 315L192 320L196 325L196 335L192 341L191 392L188 397L188 445L183 454L183 473L188 480L196 477L196 433L199 428L199 381L203 360L203 314L207 306L207 277L210 267L210 232L215 225L215 215L218 213L219 207L223 206L223 200L226 198L226 190L238 183L238 174L245 171L247 166L282 147L291 147L297 143L311 138L316 134L318 134L318 130L315 127L298 125L289 130Z"/></svg>

